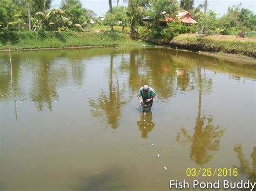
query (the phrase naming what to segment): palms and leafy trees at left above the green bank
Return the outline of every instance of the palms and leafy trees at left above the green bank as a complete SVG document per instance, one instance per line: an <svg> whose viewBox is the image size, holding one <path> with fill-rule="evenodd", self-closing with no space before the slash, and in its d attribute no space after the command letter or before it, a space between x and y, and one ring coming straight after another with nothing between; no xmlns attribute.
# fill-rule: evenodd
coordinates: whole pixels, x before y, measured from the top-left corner
<svg viewBox="0 0 256 191"><path fill-rule="evenodd" d="M96 14L80 0L62 0L59 9L50 9L51 0L1 0L0 29L10 31L64 31L83 29Z"/></svg>

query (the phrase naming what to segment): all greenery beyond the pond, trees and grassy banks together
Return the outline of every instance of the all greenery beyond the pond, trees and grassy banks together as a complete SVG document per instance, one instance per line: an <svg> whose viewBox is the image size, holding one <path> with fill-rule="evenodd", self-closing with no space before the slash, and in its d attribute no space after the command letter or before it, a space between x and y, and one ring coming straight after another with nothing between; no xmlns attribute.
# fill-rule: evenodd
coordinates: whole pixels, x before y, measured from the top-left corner
<svg viewBox="0 0 256 191"><path fill-rule="evenodd" d="M80 0L62 0L59 9L51 9L51 0L2 0L0 49L141 45L141 39L158 45L255 58L256 15L241 5L228 8L218 18L214 11L207 10L207 0L196 8L194 0L182 0L180 4L176 0L124 2L127 6L112 7L109 0L110 9L103 19L83 8ZM182 24L178 13L184 11L190 11L198 23ZM164 22L166 17L172 20ZM90 24L91 19L94 25ZM196 32L206 36L195 35Z"/></svg>

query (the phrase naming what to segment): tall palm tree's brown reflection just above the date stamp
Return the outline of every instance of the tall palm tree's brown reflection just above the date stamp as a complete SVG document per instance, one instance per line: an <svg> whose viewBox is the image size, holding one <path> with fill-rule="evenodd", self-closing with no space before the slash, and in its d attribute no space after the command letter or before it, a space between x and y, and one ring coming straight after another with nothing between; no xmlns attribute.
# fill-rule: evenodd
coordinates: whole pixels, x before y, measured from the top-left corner
<svg viewBox="0 0 256 191"><path fill-rule="evenodd" d="M201 117L201 101L203 92L207 91L203 88L211 89L212 80L207 81L205 75L202 79L200 69L198 69L198 87L198 116L194 127L194 135L190 136L185 128L181 128L176 140L182 145L191 143L191 160L194 160L196 164L203 165L213 158L213 154L209 154L210 151L219 151L219 143L221 137L223 137L224 130L219 130L219 126L211 124L212 116L207 118L208 124L204 127L206 117ZM181 139L181 135L183 135L185 140Z"/></svg>

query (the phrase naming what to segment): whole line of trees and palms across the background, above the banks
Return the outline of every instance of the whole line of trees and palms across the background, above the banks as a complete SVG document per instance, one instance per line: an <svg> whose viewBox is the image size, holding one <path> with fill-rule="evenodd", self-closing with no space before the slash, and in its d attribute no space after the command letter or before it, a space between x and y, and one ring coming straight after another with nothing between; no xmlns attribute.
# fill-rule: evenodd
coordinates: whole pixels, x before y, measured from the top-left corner
<svg viewBox="0 0 256 191"><path fill-rule="evenodd" d="M180 33L199 32L205 34L237 34L239 31L255 31L256 15L233 5L227 13L218 18L217 13L207 10L207 0L194 6L194 0L124 0L127 6L112 6L119 0L109 0L109 11L102 20L95 12L83 8L80 0L62 0L58 9L51 9L51 0L2 0L0 2L0 30L9 31L85 31L91 18L98 25L119 25L129 27L132 37L139 36L139 27L147 28L146 32L153 36L172 38ZM181 11L190 12L198 24L183 26L177 14ZM174 21L163 26L165 17ZM149 17L150 23L143 22ZM144 31L145 32L145 31Z"/></svg>

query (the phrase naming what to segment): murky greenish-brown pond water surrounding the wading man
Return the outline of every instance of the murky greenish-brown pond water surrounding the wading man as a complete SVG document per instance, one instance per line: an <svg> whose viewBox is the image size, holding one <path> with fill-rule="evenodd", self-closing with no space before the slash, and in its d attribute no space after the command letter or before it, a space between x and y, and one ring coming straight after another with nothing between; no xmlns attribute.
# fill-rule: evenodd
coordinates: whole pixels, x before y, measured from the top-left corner
<svg viewBox="0 0 256 191"><path fill-rule="evenodd" d="M254 180L255 68L165 48L0 53L1 190ZM156 91L151 112L138 89ZM159 157L158 157L159 155ZM239 168L187 177L187 168ZM199 190L199 189L198 189Z"/></svg>

